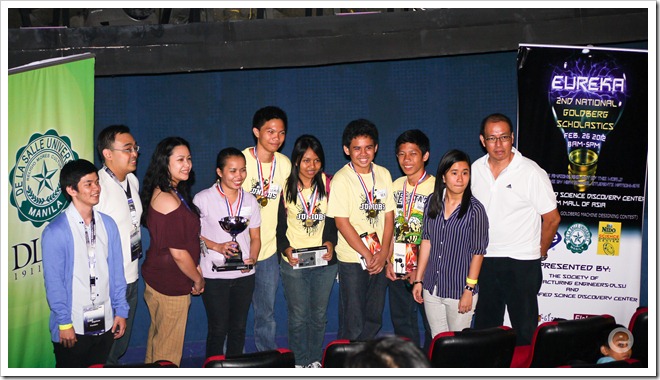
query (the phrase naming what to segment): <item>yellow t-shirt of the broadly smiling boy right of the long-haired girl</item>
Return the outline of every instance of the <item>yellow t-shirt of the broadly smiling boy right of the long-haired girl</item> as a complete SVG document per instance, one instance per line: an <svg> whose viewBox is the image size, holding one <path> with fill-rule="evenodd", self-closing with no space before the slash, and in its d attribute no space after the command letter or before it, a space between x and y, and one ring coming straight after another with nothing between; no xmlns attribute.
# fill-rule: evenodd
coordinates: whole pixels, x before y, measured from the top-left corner
<svg viewBox="0 0 660 380"><path fill-rule="evenodd" d="M384 204L375 218L368 217L367 195L362 188L358 174L348 165L344 165L330 182L330 199L328 201L328 216L331 218L348 218L355 231L359 234L364 232L376 232L378 238L383 239L385 229L385 213L394 211L394 196L392 193L392 176L386 168L373 165L373 173L376 184L373 186L371 173L360 174L366 188L371 192L374 189L374 201ZM341 232L337 234L337 259L345 263L359 263L358 253L346 242Z"/></svg>

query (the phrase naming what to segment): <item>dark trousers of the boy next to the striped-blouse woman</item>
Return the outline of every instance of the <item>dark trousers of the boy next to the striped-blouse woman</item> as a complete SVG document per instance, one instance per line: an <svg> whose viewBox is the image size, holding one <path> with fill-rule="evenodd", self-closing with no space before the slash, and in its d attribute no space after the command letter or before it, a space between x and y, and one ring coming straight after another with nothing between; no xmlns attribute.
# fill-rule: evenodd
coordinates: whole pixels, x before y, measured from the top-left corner
<svg viewBox="0 0 660 380"><path fill-rule="evenodd" d="M390 316L392 317L394 334L406 337L419 346L419 322L417 313L420 313L424 323L424 347L430 347L432 339L431 328L426 320L424 308L415 302L412 296L412 290L408 280L389 281L388 289Z"/></svg>

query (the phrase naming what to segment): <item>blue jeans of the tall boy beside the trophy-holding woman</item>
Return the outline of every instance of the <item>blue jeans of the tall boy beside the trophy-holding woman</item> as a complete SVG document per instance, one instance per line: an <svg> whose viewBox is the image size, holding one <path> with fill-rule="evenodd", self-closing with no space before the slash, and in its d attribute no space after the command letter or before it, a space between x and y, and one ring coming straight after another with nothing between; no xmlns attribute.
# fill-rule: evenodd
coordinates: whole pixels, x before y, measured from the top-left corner
<svg viewBox="0 0 660 380"><path fill-rule="evenodd" d="M255 267L252 308L254 310L254 344L257 346L257 351L278 348L275 342L277 328L275 324L275 294L280 280L277 256L279 256L279 253L257 262Z"/></svg>

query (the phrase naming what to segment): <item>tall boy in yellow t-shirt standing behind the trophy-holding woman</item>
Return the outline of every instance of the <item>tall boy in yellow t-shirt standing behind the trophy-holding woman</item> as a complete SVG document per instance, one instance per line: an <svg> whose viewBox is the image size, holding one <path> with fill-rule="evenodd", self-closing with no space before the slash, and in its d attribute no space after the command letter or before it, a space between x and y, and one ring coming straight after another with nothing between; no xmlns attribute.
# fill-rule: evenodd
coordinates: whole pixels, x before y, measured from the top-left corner
<svg viewBox="0 0 660 380"><path fill-rule="evenodd" d="M275 106L257 110L252 117L252 133L256 145L245 148L247 178L243 188L252 193L261 210L261 250L255 269L254 344L257 351L274 350L277 323L275 322L275 296L280 281L276 230L278 203L289 172L291 161L278 150L284 144L287 129L286 113Z"/></svg>

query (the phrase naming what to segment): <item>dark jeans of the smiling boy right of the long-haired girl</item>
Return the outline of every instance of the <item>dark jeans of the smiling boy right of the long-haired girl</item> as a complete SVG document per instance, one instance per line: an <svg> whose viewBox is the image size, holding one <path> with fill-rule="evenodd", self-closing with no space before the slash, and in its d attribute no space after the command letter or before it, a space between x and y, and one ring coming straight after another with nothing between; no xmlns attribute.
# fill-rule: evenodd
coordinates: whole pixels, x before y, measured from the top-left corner
<svg viewBox="0 0 660 380"><path fill-rule="evenodd" d="M360 264L339 262L338 339L369 340L383 322L387 277L385 270L369 275Z"/></svg>

